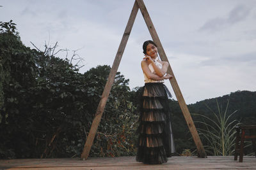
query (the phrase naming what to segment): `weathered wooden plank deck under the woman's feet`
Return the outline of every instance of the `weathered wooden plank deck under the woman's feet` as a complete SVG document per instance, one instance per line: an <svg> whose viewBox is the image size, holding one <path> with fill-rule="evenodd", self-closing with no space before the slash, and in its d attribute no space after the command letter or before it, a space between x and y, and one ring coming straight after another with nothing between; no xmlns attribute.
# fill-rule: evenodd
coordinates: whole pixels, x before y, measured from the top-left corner
<svg viewBox="0 0 256 170"><path fill-rule="evenodd" d="M0 160L0 169L256 169L256 158L245 156L243 162L234 157L171 157L160 165L145 165L135 157L81 159L12 159Z"/></svg>

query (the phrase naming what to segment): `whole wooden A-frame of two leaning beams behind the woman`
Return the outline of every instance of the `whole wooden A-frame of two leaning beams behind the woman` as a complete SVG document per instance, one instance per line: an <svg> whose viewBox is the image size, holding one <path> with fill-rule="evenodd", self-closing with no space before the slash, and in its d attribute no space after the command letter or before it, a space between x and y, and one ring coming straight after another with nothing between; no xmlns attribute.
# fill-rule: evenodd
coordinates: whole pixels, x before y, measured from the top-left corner
<svg viewBox="0 0 256 170"><path fill-rule="evenodd" d="M139 8L140 8L141 14L143 15L143 18L144 18L144 20L147 24L148 31L150 32L150 35L152 36L153 41L157 45L158 53L159 53L159 56L161 57L161 60L164 60L164 61L168 62L168 59L167 59L166 54L164 52L163 46L161 45L160 39L157 35L156 29L154 28L152 20L149 17L147 8L146 8L143 0L135 0L134 6L133 6L132 11L131 11L131 15L130 15L128 23L125 27L124 35L122 37L121 43L120 43L118 51L116 53L116 57L115 57L115 60L113 62L113 66L112 66L111 71L109 73L108 81L107 81L107 83L104 87L104 91L102 93L100 103L99 103L97 111L95 113L95 118L93 119L90 132L89 132L88 137L86 139L86 143L84 144L83 153L81 154L81 158L83 160L88 158L88 155L89 155L90 150L92 148L93 139L94 139L95 134L97 132L97 129L99 127L99 122L100 122L100 119L102 117L102 113L104 111L104 108L106 106L106 102L108 100L109 92L110 92L111 87L113 85L113 82L115 80L116 71L117 71L118 66L120 64L120 60L122 59L122 55L124 53L124 49L125 49L125 46L127 44L129 35L131 33L131 30L132 30L132 25L134 24L134 20L136 18L136 15L138 13ZM180 105L180 108L181 108L182 113L184 115L184 118L186 119L186 122L187 122L188 127L189 127L189 131L191 132L193 140L195 141L195 145L196 145L199 157L204 158L204 157L206 157L204 146L202 145L202 142L199 138L198 132L196 131L195 124L194 124L194 122L191 118L191 115L189 113L188 106L186 105L186 103L184 101L184 98L183 98L183 96L180 92L179 85L176 81L176 78L173 74L173 71L172 71L172 68L171 68L170 64L169 64L167 73L171 74L173 76L173 78L170 79L170 83L172 84L173 91L175 93L175 96L177 97L177 100L179 102L179 105Z"/></svg>

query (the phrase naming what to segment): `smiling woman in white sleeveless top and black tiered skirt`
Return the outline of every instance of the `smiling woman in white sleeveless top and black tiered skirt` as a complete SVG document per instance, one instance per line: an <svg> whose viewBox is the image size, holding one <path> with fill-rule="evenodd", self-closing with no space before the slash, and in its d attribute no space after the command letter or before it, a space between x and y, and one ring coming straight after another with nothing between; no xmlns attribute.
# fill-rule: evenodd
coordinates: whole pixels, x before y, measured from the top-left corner
<svg viewBox="0 0 256 170"><path fill-rule="evenodd" d="M168 106L168 99L172 96L163 84L164 79L172 76L166 74L168 62L158 59L154 41L143 43L143 53L145 57L141 61L141 68L145 86L141 101L136 160L144 164L162 164L175 152Z"/></svg>

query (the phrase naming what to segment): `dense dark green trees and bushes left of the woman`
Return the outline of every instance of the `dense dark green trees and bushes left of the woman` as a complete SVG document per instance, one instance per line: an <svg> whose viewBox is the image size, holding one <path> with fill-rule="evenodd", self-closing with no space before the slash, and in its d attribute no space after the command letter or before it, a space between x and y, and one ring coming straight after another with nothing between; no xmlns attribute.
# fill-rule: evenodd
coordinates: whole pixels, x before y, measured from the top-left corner
<svg viewBox="0 0 256 170"><path fill-rule="evenodd" d="M1 23L0 157L79 157L110 67L81 74L55 56L56 45L22 45L14 25ZM90 156L134 155L138 115L128 83L116 74Z"/></svg>

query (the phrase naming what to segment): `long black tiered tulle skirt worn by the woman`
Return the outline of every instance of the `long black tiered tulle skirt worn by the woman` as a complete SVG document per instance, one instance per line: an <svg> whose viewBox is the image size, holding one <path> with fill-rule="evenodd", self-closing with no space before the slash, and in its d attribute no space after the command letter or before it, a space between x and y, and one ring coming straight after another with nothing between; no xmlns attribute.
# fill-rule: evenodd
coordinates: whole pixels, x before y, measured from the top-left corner
<svg viewBox="0 0 256 170"><path fill-rule="evenodd" d="M145 83L138 127L138 162L162 164L175 152L168 106L170 97L163 83Z"/></svg>

